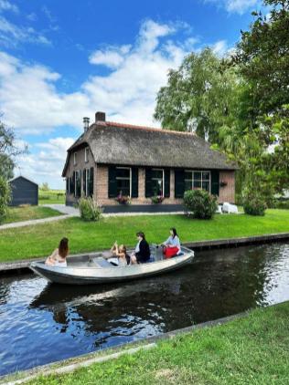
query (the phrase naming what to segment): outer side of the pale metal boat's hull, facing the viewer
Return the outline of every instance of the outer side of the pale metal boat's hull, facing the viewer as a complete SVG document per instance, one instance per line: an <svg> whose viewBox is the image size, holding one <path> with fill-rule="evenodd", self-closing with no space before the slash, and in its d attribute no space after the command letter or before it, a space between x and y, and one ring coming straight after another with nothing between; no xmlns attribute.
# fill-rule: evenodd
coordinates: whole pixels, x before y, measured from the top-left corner
<svg viewBox="0 0 289 385"><path fill-rule="evenodd" d="M43 276L50 282L68 285L95 285L164 274L189 264L193 257L194 252L186 249L184 255L141 265L93 267L74 266L73 263L71 265L69 263L67 267L60 267L48 266L43 262L33 262L30 268L38 276Z"/></svg>

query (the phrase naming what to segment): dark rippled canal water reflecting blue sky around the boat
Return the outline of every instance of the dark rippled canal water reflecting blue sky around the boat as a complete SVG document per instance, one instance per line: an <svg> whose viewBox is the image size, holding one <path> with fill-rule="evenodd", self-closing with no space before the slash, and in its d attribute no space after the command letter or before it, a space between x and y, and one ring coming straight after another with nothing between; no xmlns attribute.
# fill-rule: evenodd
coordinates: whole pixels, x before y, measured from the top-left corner
<svg viewBox="0 0 289 385"><path fill-rule="evenodd" d="M289 299L289 245L196 253L166 276L113 286L0 280L0 374Z"/></svg>

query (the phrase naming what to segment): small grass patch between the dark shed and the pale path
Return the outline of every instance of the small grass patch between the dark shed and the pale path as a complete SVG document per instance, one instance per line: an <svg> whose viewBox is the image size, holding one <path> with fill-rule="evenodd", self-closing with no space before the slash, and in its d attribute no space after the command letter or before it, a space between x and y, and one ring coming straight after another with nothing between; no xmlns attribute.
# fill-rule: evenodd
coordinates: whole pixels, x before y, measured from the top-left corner
<svg viewBox="0 0 289 385"><path fill-rule="evenodd" d="M50 216L61 215L56 210L49 207L39 206L23 206L23 207L9 207L7 216L3 224L11 224L14 222L28 221L30 219L48 218Z"/></svg>

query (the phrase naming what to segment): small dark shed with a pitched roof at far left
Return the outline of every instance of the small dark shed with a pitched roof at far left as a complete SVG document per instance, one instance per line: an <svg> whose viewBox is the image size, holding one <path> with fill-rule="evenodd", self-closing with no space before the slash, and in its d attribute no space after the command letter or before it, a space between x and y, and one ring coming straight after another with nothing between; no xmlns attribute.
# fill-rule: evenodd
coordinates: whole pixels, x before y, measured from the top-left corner
<svg viewBox="0 0 289 385"><path fill-rule="evenodd" d="M38 185L24 176L17 176L9 181L11 187L11 206L20 204L38 204Z"/></svg>

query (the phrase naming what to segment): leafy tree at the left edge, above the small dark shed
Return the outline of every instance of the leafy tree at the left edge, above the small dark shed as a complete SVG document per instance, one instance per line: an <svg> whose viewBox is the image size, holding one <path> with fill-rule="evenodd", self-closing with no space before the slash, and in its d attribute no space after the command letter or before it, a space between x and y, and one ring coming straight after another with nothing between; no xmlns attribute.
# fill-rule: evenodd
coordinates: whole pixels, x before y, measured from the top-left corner
<svg viewBox="0 0 289 385"><path fill-rule="evenodd" d="M16 156L26 153L27 147L19 150L16 147L16 135L0 121L0 176L9 180L13 178L13 169L16 164Z"/></svg>

